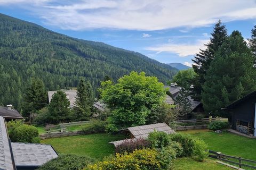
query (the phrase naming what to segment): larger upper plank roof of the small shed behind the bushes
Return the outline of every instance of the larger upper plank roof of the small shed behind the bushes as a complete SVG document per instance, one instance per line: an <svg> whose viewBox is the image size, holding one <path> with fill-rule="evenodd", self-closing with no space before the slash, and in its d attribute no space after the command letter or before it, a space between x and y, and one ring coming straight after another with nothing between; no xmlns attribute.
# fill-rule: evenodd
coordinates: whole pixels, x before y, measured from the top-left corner
<svg viewBox="0 0 256 170"><path fill-rule="evenodd" d="M166 132L168 134L175 133L166 123L156 123L142 126L135 126L128 128L134 138L147 138L150 132L154 132L154 130L159 132Z"/></svg>

